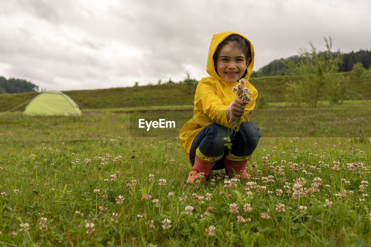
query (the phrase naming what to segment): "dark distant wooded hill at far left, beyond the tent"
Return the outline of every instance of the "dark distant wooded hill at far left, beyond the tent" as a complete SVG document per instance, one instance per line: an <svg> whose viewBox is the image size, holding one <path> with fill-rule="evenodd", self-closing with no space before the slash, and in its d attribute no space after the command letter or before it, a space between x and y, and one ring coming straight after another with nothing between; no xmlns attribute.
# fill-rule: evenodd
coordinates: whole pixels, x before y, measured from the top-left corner
<svg viewBox="0 0 371 247"><path fill-rule="evenodd" d="M9 78L8 80L5 77L0 76L0 94L5 93L29 93L39 91L39 86L23 80Z"/></svg>

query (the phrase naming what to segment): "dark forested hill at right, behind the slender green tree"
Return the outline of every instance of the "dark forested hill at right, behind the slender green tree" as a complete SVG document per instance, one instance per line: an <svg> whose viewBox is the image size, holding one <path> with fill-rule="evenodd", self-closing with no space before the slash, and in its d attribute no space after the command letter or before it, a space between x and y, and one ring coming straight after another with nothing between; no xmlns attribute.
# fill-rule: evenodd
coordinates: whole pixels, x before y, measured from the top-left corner
<svg viewBox="0 0 371 247"><path fill-rule="evenodd" d="M321 52L323 56L326 56L327 51ZM338 56L338 52L332 53L332 58ZM262 77L262 76L288 76L292 71L285 64L285 61L294 61L300 63L302 61L301 56L292 56L288 59L278 59L270 62L266 66L260 68L258 71L253 71L251 77ZM342 54L342 60L339 63L338 72L349 72L352 70L353 64L361 63L365 69L371 67L371 50L359 50L357 52L350 52Z"/></svg>

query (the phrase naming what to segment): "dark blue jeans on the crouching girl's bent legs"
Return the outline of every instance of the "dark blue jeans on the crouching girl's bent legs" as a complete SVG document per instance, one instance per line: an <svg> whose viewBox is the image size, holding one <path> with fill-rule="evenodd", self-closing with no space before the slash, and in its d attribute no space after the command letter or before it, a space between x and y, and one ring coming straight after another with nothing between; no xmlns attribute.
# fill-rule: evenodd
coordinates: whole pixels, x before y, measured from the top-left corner
<svg viewBox="0 0 371 247"><path fill-rule="evenodd" d="M228 134L232 143L231 150L224 145L228 143L227 140L224 140ZM240 130L233 133L227 127L217 123L211 123L204 127L194 138L190 152L191 163L192 165L194 164L197 148L199 148L202 154L208 157L218 157L224 152L223 158L218 160L213 167L213 170L221 170L224 168L223 159L229 151L238 157L249 156L255 150L259 138L259 128L248 121L242 122Z"/></svg>

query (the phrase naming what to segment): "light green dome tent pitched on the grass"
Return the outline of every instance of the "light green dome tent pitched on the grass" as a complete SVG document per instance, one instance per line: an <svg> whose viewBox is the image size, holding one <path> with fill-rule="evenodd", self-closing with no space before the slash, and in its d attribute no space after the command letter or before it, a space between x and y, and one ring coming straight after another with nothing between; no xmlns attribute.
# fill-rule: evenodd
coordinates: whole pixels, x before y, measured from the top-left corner
<svg viewBox="0 0 371 247"><path fill-rule="evenodd" d="M23 112L28 116L81 116L81 111L70 97L60 91L37 95Z"/></svg>

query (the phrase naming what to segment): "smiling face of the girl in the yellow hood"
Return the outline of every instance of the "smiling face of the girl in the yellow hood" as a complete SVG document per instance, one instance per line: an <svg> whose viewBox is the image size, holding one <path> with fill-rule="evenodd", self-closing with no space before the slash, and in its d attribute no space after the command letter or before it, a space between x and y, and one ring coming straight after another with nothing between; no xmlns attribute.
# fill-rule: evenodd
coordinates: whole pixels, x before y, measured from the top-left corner
<svg viewBox="0 0 371 247"><path fill-rule="evenodd" d="M222 79L229 83L234 83L243 76L248 65L249 63L245 59L243 50L229 43L219 51L216 71Z"/></svg>

